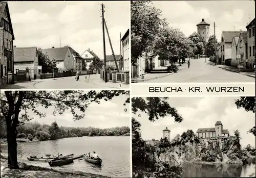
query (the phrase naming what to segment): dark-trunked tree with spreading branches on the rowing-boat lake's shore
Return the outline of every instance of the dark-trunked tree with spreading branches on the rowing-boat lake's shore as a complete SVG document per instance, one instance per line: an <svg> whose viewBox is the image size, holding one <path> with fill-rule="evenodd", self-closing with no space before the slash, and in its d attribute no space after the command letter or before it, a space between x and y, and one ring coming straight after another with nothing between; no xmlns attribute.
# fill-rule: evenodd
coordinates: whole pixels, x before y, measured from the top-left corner
<svg viewBox="0 0 256 178"><path fill-rule="evenodd" d="M129 95L129 91L4 91L1 92L1 115L5 118L8 144L8 167L17 169L17 126L31 120L28 111L39 117L46 117L45 113L37 110L39 106L46 109L54 107L53 115L62 114L69 110L74 120L84 117L90 103L100 103L100 99L110 100L120 94ZM130 103L130 98L125 104ZM21 112L21 113L20 113Z"/></svg>

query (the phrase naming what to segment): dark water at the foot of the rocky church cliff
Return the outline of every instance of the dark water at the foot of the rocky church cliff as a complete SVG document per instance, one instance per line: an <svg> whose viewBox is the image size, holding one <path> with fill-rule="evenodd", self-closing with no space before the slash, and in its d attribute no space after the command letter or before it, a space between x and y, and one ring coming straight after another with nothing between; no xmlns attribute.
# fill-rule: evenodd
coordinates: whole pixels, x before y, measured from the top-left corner
<svg viewBox="0 0 256 178"><path fill-rule="evenodd" d="M184 177L248 177L255 164L192 164L183 163Z"/></svg>

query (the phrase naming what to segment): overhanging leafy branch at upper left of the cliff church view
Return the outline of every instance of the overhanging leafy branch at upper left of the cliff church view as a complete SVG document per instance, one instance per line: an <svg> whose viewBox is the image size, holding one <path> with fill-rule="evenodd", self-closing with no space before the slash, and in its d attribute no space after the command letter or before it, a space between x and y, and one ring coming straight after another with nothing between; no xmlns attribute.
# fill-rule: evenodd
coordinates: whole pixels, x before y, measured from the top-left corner
<svg viewBox="0 0 256 178"><path fill-rule="evenodd" d="M183 120L178 111L171 107L167 101L168 97L133 97L132 112L138 111L146 113L150 121L158 120L159 117L173 116L176 122Z"/></svg>

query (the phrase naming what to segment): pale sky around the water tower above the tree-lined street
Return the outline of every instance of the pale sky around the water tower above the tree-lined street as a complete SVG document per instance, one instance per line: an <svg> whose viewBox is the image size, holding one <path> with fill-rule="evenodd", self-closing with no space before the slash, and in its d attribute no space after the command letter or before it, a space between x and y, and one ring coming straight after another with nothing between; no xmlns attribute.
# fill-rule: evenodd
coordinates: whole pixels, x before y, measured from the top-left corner
<svg viewBox="0 0 256 178"><path fill-rule="evenodd" d="M162 10L170 27L180 29L186 37L197 32L202 18L210 24L210 35L221 39L222 31L246 31L246 25L255 17L254 1L154 1L153 6ZM250 15L250 20L249 20ZM235 26L235 27L234 27Z"/></svg>

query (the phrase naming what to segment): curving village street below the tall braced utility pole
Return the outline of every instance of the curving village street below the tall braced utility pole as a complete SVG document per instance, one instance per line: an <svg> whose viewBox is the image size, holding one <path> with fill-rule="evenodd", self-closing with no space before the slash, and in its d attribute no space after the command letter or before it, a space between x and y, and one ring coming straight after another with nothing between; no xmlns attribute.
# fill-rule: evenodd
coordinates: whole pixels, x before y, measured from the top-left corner
<svg viewBox="0 0 256 178"><path fill-rule="evenodd" d="M105 83L100 79L99 74L93 74L88 81L87 75L80 75L79 80L73 77L37 79L26 82L18 82L8 85L5 89L107 89L107 88L129 88L129 85L122 83Z"/></svg>

